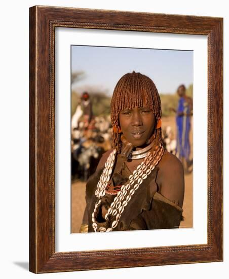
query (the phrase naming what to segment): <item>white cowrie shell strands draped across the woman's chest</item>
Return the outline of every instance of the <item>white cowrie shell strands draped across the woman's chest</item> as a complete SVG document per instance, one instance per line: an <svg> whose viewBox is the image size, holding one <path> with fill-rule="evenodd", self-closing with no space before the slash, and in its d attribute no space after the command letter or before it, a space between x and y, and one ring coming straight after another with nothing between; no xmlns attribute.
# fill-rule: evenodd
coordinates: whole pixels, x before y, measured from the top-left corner
<svg viewBox="0 0 229 279"><path fill-rule="evenodd" d="M95 191L95 195L98 198L98 201L95 203L95 208L92 213L92 227L95 232L112 231L114 228L118 226L120 217L122 213L125 211L125 207L128 205L129 201L131 200L132 196L135 194L139 186L142 184L143 180L145 180L149 176L151 171L160 162L163 154L164 148L161 144L156 146L154 151L149 151L147 153L147 155L144 158L144 161L142 161L141 164L139 164L137 168L133 171L132 175L129 176L128 182L122 185L117 196L110 204L110 207L108 208L108 211L105 215L105 220L107 221L109 226L105 228L103 226L99 226L98 222L96 222L96 213L98 207L101 204L102 197L106 194L105 188L110 180L113 165L117 155L117 150L114 149L110 153L105 162L105 167L100 176L99 182L97 184L97 189Z"/></svg>

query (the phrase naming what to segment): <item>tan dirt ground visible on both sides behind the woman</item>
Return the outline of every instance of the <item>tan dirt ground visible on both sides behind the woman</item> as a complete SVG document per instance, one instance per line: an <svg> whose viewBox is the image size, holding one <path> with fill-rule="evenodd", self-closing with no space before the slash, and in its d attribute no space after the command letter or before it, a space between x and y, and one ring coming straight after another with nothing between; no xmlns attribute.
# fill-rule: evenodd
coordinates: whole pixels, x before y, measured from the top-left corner
<svg viewBox="0 0 229 279"><path fill-rule="evenodd" d="M174 117L166 117L162 119L162 128L170 125L172 130L176 131ZM190 131L191 152L193 147L193 130ZM192 153L191 153L192 158ZM193 226L193 173L188 173L184 176L184 202L183 202L183 217L184 220L180 223L180 228L190 228ZM77 233L80 230L85 201L85 182L73 181L71 184L71 233Z"/></svg>

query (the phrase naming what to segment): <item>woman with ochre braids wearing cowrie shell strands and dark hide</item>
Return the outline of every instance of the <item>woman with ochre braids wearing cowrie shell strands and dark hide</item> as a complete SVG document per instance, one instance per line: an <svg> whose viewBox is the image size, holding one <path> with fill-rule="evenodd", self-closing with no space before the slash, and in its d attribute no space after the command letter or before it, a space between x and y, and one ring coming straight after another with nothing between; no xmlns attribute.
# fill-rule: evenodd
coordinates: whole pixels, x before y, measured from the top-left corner
<svg viewBox="0 0 229 279"><path fill-rule="evenodd" d="M161 100L151 79L124 75L111 100L113 149L86 185L81 232L178 228L183 166L164 150Z"/></svg>

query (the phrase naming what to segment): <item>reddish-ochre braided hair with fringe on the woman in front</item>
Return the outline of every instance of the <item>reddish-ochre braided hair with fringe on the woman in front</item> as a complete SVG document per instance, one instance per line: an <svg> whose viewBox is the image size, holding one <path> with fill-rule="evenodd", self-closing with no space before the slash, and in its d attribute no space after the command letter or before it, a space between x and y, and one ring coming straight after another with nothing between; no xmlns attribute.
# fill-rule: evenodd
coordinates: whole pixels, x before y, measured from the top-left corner
<svg viewBox="0 0 229 279"><path fill-rule="evenodd" d="M154 82L140 73L128 73L124 75L117 83L111 99L111 124L116 129L113 130L113 148L118 153L121 152L122 142L121 133L118 133L119 113L124 109L133 109L134 107L143 107L145 105L155 114L157 126L162 116L161 99ZM162 129L154 130L155 137L159 143L162 143Z"/></svg>

